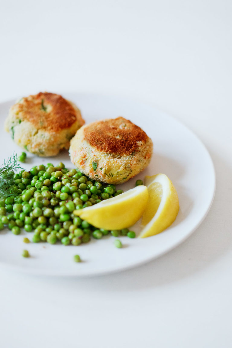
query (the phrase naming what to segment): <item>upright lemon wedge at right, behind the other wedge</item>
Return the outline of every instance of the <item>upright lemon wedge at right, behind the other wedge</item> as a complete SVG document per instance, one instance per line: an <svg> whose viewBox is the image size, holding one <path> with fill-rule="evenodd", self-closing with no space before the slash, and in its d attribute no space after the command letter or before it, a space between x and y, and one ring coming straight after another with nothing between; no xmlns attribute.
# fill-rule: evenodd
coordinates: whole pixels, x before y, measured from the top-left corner
<svg viewBox="0 0 232 348"><path fill-rule="evenodd" d="M150 237L169 227L179 211L176 189L165 174L145 177L149 199L142 218L140 238Z"/></svg>

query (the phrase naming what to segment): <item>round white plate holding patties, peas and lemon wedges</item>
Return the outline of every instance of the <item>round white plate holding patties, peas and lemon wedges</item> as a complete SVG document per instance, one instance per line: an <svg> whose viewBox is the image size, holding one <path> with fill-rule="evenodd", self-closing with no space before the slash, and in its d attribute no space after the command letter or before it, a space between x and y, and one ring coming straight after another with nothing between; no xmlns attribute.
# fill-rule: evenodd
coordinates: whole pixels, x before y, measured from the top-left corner
<svg viewBox="0 0 232 348"><path fill-rule="evenodd" d="M91 94L64 94L81 109L86 123L104 118L123 116L142 127L152 138L154 153L145 171L120 185L123 190L135 186L137 179L145 175L165 173L174 183L180 211L176 221L161 234L145 239L121 237L122 249L114 246L114 237L92 240L80 246L64 246L48 243L24 244L23 237L32 234L22 232L15 236L9 230L0 232L0 264L31 274L59 276L90 276L125 270L148 262L168 252L185 240L205 218L215 192L215 172L208 151L189 129L176 119L150 106L120 98ZM13 101L0 104L0 163L14 151L22 152L3 130L3 122ZM53 158L39 158L28 153L25 169L41 163L63 161L73 168L67 151ZM134 227L139 231L139 224ZM27 249L31 258L21 256ZM73 262L79 254L83 262Z"/></svg>

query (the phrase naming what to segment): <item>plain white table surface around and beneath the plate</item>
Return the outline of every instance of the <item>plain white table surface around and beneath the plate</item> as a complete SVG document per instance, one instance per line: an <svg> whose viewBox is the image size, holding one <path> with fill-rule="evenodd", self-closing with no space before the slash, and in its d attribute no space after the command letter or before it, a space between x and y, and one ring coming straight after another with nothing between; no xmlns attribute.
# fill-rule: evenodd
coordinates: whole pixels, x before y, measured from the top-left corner
<svg viewBox="0 0 232 348"><path fill-rule="evenodd" d="M0 102L40 90L146 102L200 137L217 176L201 226L144 266L86 279L0 268L0 347L231 347L232 2L0 5Z"/></svg>

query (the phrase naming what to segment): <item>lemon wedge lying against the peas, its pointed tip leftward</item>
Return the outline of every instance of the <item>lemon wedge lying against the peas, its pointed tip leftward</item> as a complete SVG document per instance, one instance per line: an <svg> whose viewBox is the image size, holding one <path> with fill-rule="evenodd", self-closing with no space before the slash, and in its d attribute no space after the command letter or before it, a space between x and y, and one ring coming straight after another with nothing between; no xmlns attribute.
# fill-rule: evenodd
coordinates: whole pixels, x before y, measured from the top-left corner
<svg viewBox="0 0 232 348"><path fill-rule="evenodd" d="M141 218L147 201L147 187L140 185L93 206L74 210L74 214L97 228L121 230Z"/></svg>

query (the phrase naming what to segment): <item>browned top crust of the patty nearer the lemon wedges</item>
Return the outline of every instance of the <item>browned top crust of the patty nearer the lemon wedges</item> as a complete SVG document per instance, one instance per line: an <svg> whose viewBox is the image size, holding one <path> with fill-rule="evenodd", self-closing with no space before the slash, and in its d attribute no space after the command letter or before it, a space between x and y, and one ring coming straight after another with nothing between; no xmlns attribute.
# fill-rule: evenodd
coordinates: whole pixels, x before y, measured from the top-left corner
<svg viewBox="0 0 232 348"><path fill-rule="evenodd" d="M145 144L148 140L140 127L123 117L93 122L83 133L84 139L96 150L119 156L134 155L139 149L138 142Z"/></svg>

